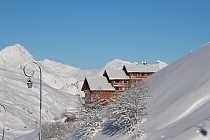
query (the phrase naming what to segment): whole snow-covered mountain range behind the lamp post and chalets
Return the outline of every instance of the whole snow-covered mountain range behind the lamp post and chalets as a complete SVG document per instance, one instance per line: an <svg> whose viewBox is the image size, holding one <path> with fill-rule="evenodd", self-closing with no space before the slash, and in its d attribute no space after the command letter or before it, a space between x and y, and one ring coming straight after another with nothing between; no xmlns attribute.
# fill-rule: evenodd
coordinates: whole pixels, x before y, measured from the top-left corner
<svg viewBox="0 0 210 140"><path fill-rule="evenodd" d="M27 77L23 67L29 62L38 62L42 69L42 121L53 121L61 113L78 105L81 85L86 76L102 75L105 69L122 69L130 62L119 59L96 70L81 70L51 60L36 61L20 44L8 46L0 51L0 132L5 125L5 138L15 139L30 133L39 125L39 69L34 65L33 88L26 86ZM0 133L0 135L2 135Z"/></svg>

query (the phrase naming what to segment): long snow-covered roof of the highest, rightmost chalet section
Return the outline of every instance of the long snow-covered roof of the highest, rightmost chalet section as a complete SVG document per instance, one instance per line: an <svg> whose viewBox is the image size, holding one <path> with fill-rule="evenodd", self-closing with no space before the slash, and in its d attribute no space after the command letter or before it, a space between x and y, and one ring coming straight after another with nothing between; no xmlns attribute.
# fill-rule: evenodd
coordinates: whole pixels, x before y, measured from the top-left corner
<svg viewBox="0 0 210 140"><path fill-rule="evenodd" d="M127 72L157 72L160 70L159 66L154 65L144 65L144 64L127 64L124 65Z"/></svg>

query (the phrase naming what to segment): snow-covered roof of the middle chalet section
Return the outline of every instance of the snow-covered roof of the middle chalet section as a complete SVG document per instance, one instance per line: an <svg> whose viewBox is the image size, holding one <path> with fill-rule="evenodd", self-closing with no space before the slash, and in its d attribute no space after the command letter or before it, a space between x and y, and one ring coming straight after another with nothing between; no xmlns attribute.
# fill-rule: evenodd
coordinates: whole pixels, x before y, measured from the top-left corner
<svg viewBox="0 0 210 140"><path fill-rule="evenodd" d="M110 80L115 79L129 79L129 77L126 75L126 73L123 70L105 70Z"/></svg>

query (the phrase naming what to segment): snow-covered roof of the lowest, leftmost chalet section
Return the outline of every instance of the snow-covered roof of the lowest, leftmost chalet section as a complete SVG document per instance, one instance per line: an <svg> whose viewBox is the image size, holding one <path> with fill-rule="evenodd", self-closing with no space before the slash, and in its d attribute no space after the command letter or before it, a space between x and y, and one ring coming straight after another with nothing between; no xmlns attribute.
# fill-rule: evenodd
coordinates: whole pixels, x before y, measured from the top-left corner
<svg viewBox="0 0 210 140"><path fill-rule="evenodd" d="M106 77L94 77L94 78L86 78L89 84L90 90L100 90L100 91L115 91L115 88L112 87L110 83L108 83Z"/></svg>

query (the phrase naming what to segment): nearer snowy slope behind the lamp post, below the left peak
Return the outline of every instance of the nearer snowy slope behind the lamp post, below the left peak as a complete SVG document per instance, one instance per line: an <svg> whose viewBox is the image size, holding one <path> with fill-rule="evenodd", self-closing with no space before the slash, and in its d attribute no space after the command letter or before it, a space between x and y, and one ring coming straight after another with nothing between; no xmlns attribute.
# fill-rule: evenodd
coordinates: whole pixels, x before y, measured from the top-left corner
<svg viewBox="0 0 210 140"><path fill-rule="evenodd" d="M1 115L0 124L5 122L5 136L14 139L35 129L39 122L39 81L33 78L34 87L28 89L27 78L21 69L0 68L0 75L0 99L6 108L5 119ZM43 123L60 117L67 107L75 107L78 103L76 96L54 89L46 83L43 83L42 93ZM1 131L3 125L0 126Z"/></svg>

